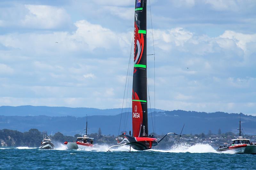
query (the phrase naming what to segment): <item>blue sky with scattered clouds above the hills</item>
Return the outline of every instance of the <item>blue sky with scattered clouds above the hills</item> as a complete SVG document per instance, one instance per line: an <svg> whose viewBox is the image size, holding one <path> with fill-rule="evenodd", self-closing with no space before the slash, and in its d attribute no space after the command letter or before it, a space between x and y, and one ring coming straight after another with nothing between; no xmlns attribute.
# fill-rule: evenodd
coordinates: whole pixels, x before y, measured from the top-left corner
<svg viewBox="0 0 256 170"><path fill-rule="evenodd" d="M122 107L134 4L0 1L0 105ZM256 115L256 1L152 0L151 12L152 107ZM147 36L152 54L149 6Z"/></svg>

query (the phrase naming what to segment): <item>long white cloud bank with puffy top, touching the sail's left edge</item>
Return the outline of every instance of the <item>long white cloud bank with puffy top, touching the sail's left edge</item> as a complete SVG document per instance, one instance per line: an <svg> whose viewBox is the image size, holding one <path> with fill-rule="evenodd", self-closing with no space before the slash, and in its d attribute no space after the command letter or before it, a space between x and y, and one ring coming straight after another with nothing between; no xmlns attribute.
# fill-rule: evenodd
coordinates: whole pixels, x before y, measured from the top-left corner
<svg viewBox="0 0 256 170"><path fill-rule="evenodd" d="M110 49L113 47L121 52L129 49L132 33L115 33L108 28L92 24L86 20L77 21L75 26L77 29L71 34L54 32L1 35L1 44L43 55L60 54L63 49L69 52L77 50L92 52L95 48ZM56 40L59 43L55 43ZM126 48L122 48L124 46Z"/></svg>

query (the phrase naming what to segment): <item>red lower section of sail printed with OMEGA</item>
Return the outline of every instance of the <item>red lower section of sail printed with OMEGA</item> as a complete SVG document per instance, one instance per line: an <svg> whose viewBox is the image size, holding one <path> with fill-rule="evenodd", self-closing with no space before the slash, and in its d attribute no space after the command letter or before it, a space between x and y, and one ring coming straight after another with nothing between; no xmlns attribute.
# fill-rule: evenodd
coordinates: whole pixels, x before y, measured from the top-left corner
<svg viewBox="0 0 256 170"><path fill-rule="evenodd" d="M140 100L137 93L132 90L132 100ZM132 101L132 134L133 137L140 136L140 128L142 123L142 107L140 101Z"/></svg>

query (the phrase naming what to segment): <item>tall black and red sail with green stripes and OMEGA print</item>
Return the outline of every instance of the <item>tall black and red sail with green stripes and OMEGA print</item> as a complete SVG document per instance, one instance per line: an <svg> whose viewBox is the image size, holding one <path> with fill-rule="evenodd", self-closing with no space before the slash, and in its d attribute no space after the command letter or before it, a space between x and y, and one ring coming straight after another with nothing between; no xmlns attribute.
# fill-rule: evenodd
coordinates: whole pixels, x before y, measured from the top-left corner
<svg viewBox="0 0 256 170"><path fill-rule="evenodd" d="M132 134L148 137L147 106L147 0L135 1Z"/></svg>

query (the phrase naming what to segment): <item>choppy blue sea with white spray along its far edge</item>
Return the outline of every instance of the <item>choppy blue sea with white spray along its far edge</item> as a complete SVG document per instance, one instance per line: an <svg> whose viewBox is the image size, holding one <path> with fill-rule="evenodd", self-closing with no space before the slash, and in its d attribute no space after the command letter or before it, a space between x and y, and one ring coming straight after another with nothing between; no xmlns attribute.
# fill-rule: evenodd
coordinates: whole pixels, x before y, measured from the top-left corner
<svg viewBox="0 0 256 170"><path fill-rule="evenodd" d="M0 169L255 169L256 155L217 153L212 146L181 144L168 150L129 151L121 146L54 150L29 147L0 148Z"/></svg>

